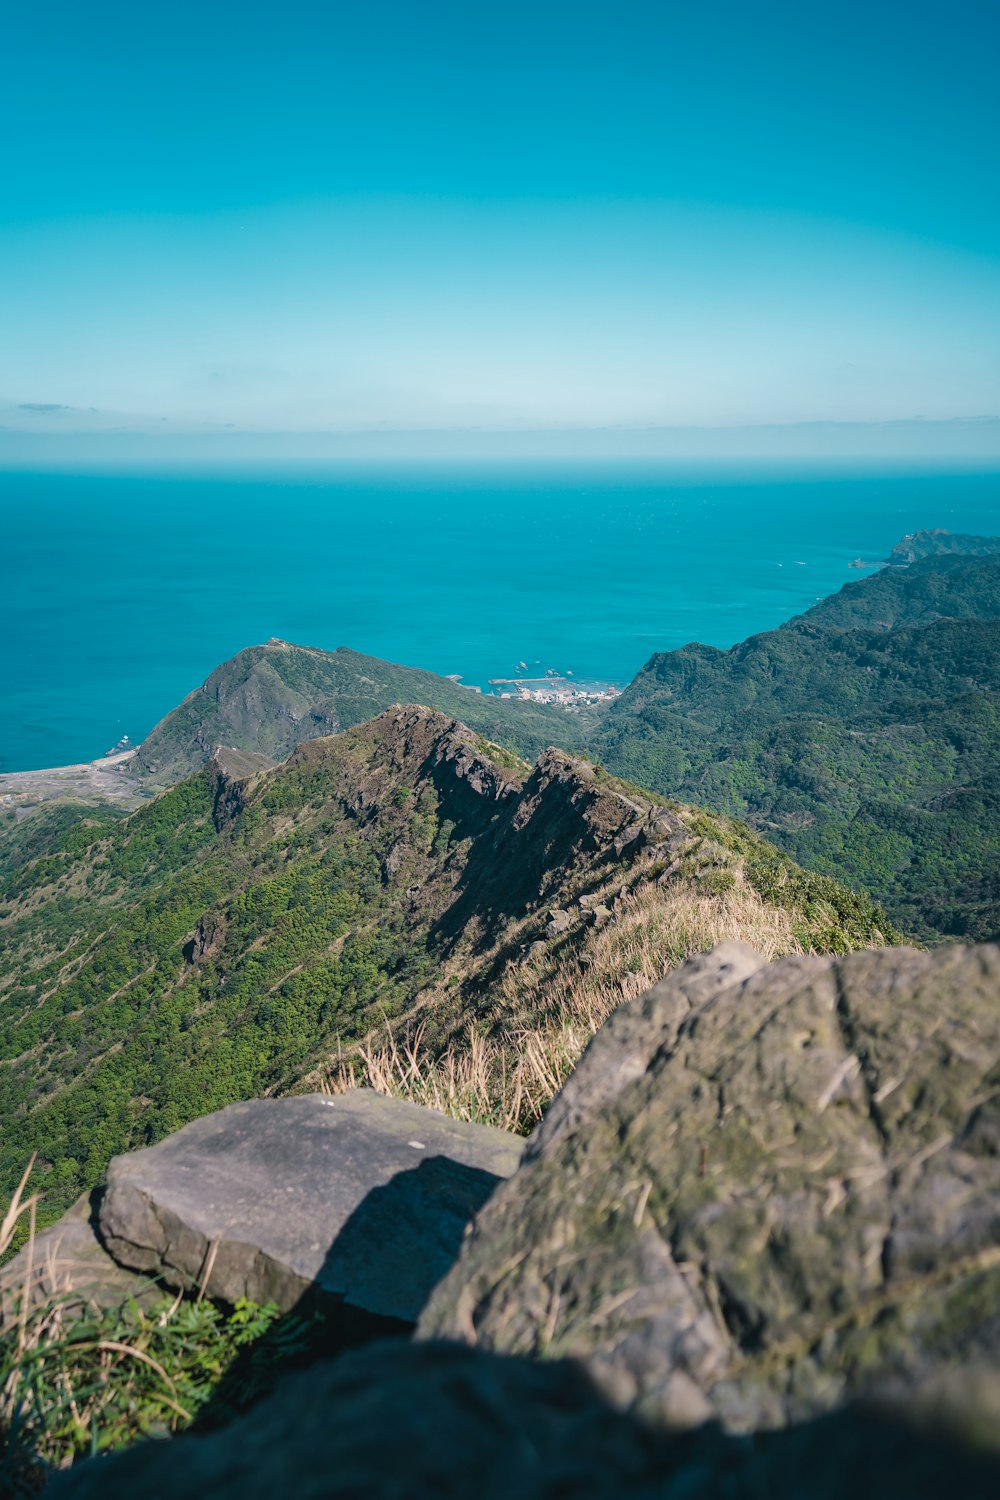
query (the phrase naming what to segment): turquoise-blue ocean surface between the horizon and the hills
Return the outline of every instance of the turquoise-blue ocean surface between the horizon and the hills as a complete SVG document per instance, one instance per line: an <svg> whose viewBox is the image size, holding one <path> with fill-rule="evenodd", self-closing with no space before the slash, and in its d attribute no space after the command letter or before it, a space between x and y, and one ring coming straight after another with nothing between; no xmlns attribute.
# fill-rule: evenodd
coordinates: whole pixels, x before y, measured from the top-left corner
<svg viewBox="0 0 1000 1500"><path fill-rule="evenodd" d="M417 464L0 474L0 770L139 741L241 646L348 645L466 682L624 684L865 574L1000 531L1000 472Z"/></svg>

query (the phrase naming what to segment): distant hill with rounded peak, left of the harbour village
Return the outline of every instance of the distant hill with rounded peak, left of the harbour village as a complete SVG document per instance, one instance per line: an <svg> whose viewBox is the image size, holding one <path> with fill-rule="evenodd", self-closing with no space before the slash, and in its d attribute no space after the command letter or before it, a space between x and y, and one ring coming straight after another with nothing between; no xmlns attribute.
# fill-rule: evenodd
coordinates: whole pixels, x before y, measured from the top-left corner
<svg viewBox="0 0 1000 1500"><path fill-rule="evenodd" d="M171 786L205 765L219 744L283 760L297 744L363 723L393 704L453 714L532 759L553 742L580 746L591 722L546 704L480 696L447 676L346 646L319 651L268 640L216 668L147 735L130 770Z"/></svg>

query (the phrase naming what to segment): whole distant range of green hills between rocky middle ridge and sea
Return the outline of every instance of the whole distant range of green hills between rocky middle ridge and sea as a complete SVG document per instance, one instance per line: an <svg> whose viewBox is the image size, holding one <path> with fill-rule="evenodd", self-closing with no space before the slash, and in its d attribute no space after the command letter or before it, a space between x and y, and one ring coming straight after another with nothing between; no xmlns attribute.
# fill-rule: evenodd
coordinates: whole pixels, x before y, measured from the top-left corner
<svg viewBox="0 0 1000 1500"><path fill-rule="evenodd" d="M300 741L421 702L531 760L556 744L745 819L798 862L867 890L921 939L990 939L1000 933L999 546L916 532L894 549L909 561L777 630L727 650L654 652L603 711L478 694L351 648L271 639L220 663L150 732L124 768L132 801L204 766L216 746L277 762ZM109 816L97 802L52 806L31 831L7 813L0 867Z"/></svg>

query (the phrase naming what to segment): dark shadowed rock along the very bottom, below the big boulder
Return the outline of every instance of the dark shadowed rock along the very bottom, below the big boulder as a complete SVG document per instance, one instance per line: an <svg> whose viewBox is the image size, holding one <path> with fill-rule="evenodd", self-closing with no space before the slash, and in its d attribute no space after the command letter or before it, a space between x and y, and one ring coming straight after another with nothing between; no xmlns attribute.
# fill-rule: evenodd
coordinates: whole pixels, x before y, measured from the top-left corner
<svg viewBox="0 0 1000 1500"><path fill-rule="evenodd" d="M384 1342L303 1371L219 1432L88 1460L46 1496L996 1500L996 1452L963 1449L940 1407L921 1416L849 1410L753 1440L664 1434L612 1410L571 1364Z"/></svg>

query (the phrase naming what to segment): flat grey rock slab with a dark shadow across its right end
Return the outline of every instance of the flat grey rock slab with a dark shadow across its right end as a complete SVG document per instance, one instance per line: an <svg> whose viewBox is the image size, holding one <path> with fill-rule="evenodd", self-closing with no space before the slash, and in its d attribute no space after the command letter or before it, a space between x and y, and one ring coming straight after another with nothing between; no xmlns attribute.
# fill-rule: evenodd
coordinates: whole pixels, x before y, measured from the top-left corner
<svg viewBox="0 0 1000 1500"><path fill-rule="evenodd" d="M523 1142L370 1089L232 1104L115 1156L100 1234L175 1287L415 1323Z"/></svg>

